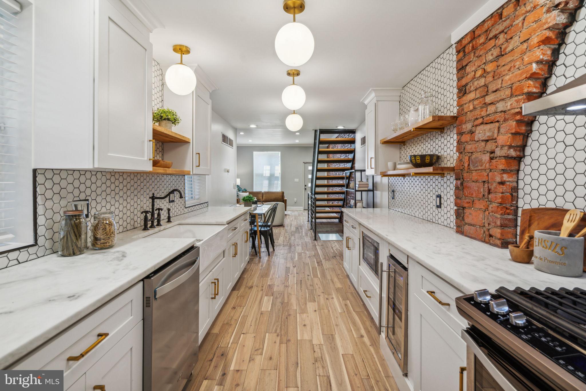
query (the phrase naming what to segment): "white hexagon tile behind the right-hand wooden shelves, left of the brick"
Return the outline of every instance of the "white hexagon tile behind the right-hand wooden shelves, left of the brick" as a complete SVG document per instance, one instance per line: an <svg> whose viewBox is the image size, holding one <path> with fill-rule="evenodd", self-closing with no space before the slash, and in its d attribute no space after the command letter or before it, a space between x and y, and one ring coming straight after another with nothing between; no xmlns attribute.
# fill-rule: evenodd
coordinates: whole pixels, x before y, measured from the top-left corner
<svg viewBox="0 0 586 391"><path fill-rule="evenodd" d="M456 115L456 53L449 47L417 74L401 91L399 110L408 114L417 106L421 93L431 91L437 115ZM438 154L438 166L454 166L456 162L456 125L444 132L432 132L401 145L400 159L413 154ZM389 178L389 209L455 228L454 174L445 176L410 176ZM441 195L441 208L435 208L436 195Z"/></svg>

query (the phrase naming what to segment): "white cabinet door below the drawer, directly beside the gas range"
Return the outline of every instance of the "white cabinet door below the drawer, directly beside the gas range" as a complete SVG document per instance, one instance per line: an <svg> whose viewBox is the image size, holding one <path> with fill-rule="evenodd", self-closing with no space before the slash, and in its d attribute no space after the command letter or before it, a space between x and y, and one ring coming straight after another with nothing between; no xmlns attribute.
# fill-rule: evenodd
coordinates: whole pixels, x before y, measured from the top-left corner
<svg viewBox="0 0 586 391"><path fill-rule="evenodd" d="M458 390L466 344L417 295L409 297L408 378L416 391Z"/></svg>

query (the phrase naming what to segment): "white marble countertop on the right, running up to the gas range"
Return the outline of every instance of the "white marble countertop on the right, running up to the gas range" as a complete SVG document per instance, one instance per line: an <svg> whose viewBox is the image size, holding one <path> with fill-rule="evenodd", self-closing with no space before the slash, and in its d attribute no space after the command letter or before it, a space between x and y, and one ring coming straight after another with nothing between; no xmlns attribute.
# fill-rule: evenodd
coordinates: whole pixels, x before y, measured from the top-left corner
<svg viewBox="0 0 586 391"><path fill-rule="evenodd" d="M582 277L561 277L535 270L533 264L510 259L508 249L457 234L454 229L390 209L343 209L346 216L379 235L463 293L504 286L574 288Z"/></svg>

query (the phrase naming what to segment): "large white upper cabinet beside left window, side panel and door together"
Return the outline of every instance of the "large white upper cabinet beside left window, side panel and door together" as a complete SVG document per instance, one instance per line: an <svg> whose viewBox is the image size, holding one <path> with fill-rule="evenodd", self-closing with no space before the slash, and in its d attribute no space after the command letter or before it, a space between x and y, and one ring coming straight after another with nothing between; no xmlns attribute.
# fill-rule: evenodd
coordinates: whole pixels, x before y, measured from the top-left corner
<svg viewBox="0 0 586 391"><path fill-rule="evenodd" d="M151 169L154 26L123 1L35 3L35 168Z"/></svg>

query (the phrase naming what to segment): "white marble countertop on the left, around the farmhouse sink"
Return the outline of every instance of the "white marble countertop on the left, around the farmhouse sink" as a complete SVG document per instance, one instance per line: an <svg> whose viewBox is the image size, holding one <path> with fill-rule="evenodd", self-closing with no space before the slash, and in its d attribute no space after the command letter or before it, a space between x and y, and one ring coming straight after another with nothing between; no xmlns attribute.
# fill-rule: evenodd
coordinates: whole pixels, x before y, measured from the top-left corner
<svg viewBox="0 0 586 391"><path fill-rule="evenodd" d="M250 208L209 207L175 216L180 223L226 225ZM163 228L164 228L163 227ZM160 230L160 228L158 229ZM151 230L152 232L152 230ZM108 250L57 253L0 270L0 369L20 359L195 244L195 239L118 234Z"/></svg>

